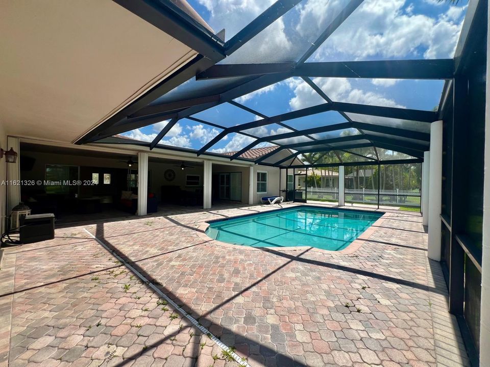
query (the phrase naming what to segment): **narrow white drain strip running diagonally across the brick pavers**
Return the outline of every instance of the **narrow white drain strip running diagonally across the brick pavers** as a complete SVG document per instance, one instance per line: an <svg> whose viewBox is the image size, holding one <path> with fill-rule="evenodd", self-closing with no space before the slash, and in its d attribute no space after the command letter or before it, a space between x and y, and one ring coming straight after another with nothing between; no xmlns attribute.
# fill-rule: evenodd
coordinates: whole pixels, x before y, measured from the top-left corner
<svg viewBox="0 0 490 367"><path fill-rule="evenodd" d="M134 275L136 275L140 280L142 280L146 285L151 287L155 293L157 293L161 298L163 298L165 301L167 301L169 304L171 304L179 313L182 314L187 320L189 320L192 325L197 327L199 330L201 330L205 335L207 335L216 345L221 348L223 351L227 352L228 355L231 355L233 359L241 366L243 367L251 367L250 364L242 359L238 354L236 354L233 349L228 347L226 344L224 344L221 340L219 340L216 336L214 336L208 329L206 329L204 326L202 326L197 320L195 320L190 314L188 314L186 311L184 311L177 303L175 303L172 299L170 299L165 293L160 291L158 287L150 282L148 279L146 279L140 272L138 272L135 268L133 268L127 261L125 261L122 257L120 257L117 253L112 251L106 244L104 244L101 240L99 240L97 237L95 237L90 231L88 231L86 228L83 229L85 232L88 233L88 235L93 238L99 245L104 247L112 256L114 256L117 260L120 261L121 264L126 266L131 272L133 272Z"/></svg>

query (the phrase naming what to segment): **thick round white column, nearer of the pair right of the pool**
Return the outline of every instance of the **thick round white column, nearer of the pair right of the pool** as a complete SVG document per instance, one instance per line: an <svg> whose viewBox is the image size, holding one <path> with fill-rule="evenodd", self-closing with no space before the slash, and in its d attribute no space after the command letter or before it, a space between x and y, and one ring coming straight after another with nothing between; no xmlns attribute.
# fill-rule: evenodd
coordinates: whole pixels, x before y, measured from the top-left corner
<svg viewBox="0 0 490 367"><path fill-rule="evenodd" d="M443 182L443 121L430 124L428 256L440 261L440 205Z"/></svg>

